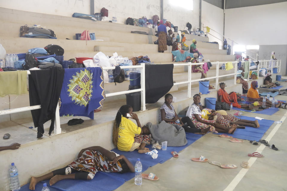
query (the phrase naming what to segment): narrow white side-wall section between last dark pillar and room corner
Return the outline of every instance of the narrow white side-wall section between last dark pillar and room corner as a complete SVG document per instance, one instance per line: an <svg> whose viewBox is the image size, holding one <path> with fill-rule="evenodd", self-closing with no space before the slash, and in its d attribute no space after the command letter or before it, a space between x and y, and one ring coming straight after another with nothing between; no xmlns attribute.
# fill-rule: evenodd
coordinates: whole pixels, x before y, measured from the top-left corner
<svg viewBox="0 0 287 191"><path fill-rule="evenodd" d="M201 1L201 23L204 24L204 27L208 26L211 29L217 31L218 33L223 34L223 9L216 7L210 3L205 1ZM206 29L204 29L204 32ZM210 30L210 34L216 36L219 39L222 39L222 36ZM216 41L219 43L220 49L222 49L223 42L218 40L217 38L209 35L209 41Z"/></svg>

